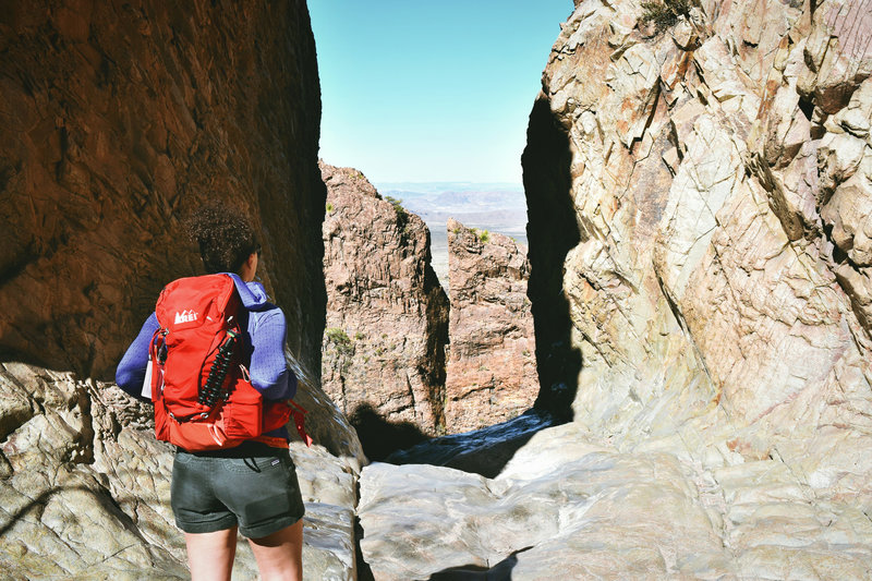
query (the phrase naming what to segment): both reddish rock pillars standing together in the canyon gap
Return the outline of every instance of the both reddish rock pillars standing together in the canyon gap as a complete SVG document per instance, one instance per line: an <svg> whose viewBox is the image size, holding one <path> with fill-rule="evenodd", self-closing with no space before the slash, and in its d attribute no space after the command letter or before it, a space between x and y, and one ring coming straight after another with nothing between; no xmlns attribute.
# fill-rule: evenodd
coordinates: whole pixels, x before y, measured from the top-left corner
<svg viewBox="0 0 872 581"><path fill-rule="evenodd" d="M373 423L457 434L529 410L538 382L525 249L449 220L449 322L422 219L383 198L360 171L320 167L328 189L322 376L364 446ZM385 443L384 451L417 439Z"/></svg>

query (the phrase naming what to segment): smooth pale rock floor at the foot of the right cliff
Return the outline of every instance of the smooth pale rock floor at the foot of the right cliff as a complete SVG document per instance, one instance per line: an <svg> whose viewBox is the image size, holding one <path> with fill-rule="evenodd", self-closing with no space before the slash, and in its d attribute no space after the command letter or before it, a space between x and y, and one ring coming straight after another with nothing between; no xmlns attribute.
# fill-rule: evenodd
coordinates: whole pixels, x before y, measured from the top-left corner
<svg viewBox="0 0 872 581"><path fill-rule="evenodd" d="M706 471L584 432L540 432L495 479L364 468L358 511L374 578L869 578L863 507L816 497L784 462Z"/></svg>

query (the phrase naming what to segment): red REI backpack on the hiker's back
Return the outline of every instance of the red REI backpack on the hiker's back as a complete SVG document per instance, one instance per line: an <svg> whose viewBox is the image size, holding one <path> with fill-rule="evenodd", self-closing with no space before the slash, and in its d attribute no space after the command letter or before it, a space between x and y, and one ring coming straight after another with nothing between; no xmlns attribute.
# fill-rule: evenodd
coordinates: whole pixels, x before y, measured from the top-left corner
<svg viewBox="0 0 872 581"><path fill-rule="evenodd" d="M181 278L161 291L149 350L158 439L189 451L252 439L287 448L284 438L263 434L292 414L302 427L305 410L291 400L265 402L251 384L239 320L244 308L228 275Z"/></svg>

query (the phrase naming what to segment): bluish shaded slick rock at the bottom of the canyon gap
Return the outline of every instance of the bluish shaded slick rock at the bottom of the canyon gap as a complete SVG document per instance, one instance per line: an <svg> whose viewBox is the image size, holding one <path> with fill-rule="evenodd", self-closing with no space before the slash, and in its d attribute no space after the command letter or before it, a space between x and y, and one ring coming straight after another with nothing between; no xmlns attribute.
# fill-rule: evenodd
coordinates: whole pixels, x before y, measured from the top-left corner
<svg viewBox="0 0 872 581"><path fill-rule="evenodd" d="M493 479L540 429L561 423L542 410L523 414L482 429L432 438L385 458L391 464L433 464L453 468Z"/></svg>

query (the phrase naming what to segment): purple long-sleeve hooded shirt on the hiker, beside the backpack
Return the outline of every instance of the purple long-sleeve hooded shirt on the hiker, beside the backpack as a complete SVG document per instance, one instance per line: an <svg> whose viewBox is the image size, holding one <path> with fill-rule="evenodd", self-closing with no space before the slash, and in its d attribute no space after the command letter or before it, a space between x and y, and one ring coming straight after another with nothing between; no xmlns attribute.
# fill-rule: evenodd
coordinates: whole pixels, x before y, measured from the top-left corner
<svg viewBox="0 0 872 581"><path fill-rule="evenodd" d="M284 362L284 313L267 302L266 291L259 282L243 282L234 274L229 276L249 312L245 342L251 353L249 372L252 385L266 400L292 398L296 394L296 376ZM157 316L152 313L116 371L119 387L138 399L146 399L142 396L142 387L148 365L148 347L159 327ZM288 437L288 432L282 427L267 435Z"/></svg>

